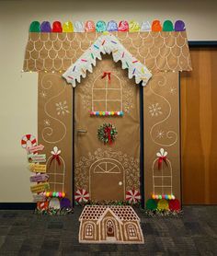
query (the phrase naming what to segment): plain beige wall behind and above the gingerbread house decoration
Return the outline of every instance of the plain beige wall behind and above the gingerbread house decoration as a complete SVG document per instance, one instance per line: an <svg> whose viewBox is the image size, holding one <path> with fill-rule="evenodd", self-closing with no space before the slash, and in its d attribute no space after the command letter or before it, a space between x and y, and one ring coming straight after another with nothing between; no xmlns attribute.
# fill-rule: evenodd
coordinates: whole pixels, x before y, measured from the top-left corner
<svg viewBox="0 0 217 256"><path fill-rule="evenodd" d="M0 202L31 201L26 154L19 141L22 134L37 134L38 76L20 73L32 20L183 19L189 40L217 41L215 2L0 0Z"/></svg>

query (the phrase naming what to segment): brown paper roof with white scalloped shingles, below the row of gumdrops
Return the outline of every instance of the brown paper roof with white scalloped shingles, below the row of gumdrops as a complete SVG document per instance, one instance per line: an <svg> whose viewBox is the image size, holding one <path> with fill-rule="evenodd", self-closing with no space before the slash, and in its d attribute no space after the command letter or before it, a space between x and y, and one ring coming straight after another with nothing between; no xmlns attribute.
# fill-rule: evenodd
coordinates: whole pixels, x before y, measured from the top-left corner
<svg viewBox="0 0 217 256"><path fill-rule="evenodd" d="M23 70L64 71L100 33L29 33ZM186 31L114 32L120 43L150 71L191 70Z"/></svg>

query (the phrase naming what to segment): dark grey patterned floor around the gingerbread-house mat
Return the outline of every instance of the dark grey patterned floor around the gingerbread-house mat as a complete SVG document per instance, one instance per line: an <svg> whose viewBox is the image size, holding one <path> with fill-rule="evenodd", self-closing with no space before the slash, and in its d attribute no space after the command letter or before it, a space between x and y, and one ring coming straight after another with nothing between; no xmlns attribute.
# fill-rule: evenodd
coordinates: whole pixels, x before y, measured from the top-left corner
<svg viewBox="0 0 217 256"><path fill-rule="evenodd" d="M186 206L181 218L142 219L143 245L79 244L78 217L0 211L0 255L217 255L217 205Z"/></svg>

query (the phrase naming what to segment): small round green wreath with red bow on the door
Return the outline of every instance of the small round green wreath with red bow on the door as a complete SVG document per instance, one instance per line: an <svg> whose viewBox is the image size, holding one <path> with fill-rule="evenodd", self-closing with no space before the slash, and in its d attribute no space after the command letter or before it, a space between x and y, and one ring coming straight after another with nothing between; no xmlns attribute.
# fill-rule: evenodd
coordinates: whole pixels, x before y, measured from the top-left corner
<svg viewBox="0 0 217 256"><path fill-rule="evenodd" d="M104 144L112 144L115 141L117 134L118 131L111 123L103 123L97 131L98 139Z"/></svg>

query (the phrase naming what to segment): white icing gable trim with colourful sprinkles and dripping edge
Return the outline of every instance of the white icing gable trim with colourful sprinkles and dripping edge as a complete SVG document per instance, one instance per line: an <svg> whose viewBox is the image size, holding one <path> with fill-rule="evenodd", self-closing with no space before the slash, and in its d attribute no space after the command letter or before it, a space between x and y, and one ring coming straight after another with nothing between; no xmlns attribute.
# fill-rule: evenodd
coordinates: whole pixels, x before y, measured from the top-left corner
<svg viewBox="0 0 217 256"><path fill-rule="evenodd" d="M112 57L115 63L121 61L122 69L128 69L128 77L131 79L135 77L136 84L142 81L143 87L146 86L148 80L152 77L151 72L147 67L134 58L130 52L128 52L120 41L111 34L103 34L97 38L86 52L72 64L63 77L68 83L76 87L76 82L81 82L81 76L86 77L86 71L93 72L93 66L96 66L96 61L102 60L101 53L112 53Z"/></svg>

